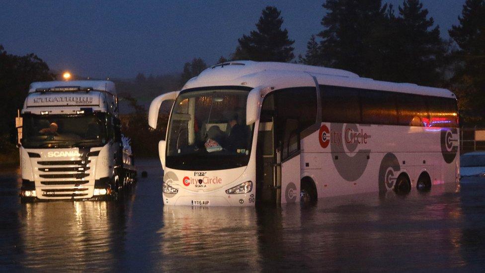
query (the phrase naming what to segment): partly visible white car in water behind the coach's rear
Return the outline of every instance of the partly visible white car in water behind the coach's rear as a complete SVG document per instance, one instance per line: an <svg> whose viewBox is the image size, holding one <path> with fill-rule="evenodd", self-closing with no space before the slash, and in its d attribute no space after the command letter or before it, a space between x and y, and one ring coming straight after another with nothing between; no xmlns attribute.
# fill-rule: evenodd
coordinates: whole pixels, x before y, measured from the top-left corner
<svg viewBox="0 0 485 273"><path fill-rule="evenodd" d="M485 151L471 152L460 157L460 176L463 179L485 180Z"/></svg>

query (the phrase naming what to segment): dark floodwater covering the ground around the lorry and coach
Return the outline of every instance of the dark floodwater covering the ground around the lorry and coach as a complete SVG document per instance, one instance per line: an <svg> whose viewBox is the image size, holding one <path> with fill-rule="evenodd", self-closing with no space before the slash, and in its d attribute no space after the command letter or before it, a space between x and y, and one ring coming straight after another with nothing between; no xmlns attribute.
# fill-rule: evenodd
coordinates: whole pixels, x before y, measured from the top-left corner
<svg viewBox="0 0 485 273"><path fill-rule="evenodd" d="M21 204L0 170L0 270L483 271L485 183L301 208L164 207L157 160L123 202Z"/></svg>

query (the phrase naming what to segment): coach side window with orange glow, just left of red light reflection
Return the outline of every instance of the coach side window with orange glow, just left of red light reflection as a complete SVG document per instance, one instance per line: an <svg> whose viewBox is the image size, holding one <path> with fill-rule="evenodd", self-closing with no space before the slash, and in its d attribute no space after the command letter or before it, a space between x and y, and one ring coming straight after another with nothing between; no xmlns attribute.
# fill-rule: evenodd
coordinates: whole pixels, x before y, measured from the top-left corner
<svg viewBox="0 0 485 273"><path fill-rule="evenodd" d="M399 125L425 126L428 122L428 110L424 96L415 94L396 94Z"/></svg>

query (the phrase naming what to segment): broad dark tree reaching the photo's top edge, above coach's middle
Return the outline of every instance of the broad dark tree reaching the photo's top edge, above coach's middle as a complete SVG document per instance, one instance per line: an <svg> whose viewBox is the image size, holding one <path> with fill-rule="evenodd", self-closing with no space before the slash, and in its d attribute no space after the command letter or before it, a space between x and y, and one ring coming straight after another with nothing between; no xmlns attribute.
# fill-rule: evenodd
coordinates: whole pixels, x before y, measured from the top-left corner
<svg viewBox="0 0 485 273"><path fill-rule="evenodd" d="M376 75L387 5L382 6L381 0L327 0L323 7L328 12L318 34L320 58L314 62L365 77Z"/></svg>

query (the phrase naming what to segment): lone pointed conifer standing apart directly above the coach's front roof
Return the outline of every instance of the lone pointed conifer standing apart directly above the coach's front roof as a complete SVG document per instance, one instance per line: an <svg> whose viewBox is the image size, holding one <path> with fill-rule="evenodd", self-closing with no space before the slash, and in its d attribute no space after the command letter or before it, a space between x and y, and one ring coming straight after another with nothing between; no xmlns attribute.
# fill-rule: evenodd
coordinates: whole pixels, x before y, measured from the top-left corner
<svg viewBox="0 0 485 273"><path fill-rule="evenodd" d="M233 54L233 60L290 62L293 60L293 43L288 38L288 30L281 29L283 18L274 6L263 9L256 30L249 36L238 39L239 45Z"/></svg>

